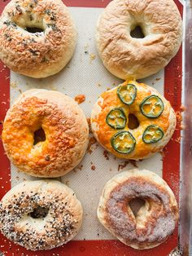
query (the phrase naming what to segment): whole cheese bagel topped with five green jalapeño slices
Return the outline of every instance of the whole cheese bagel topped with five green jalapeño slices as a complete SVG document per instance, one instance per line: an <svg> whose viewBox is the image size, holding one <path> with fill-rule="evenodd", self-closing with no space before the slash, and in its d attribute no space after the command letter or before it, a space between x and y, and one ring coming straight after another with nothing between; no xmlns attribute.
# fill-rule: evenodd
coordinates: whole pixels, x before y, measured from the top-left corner
<svg viewBox="0 0 192 256"><path fill-rule="evenodd" d="M116 157L138 160L164 148L175 130L176 115L157 90L126 81L98 98L91 126L107 151Z"/></svg>

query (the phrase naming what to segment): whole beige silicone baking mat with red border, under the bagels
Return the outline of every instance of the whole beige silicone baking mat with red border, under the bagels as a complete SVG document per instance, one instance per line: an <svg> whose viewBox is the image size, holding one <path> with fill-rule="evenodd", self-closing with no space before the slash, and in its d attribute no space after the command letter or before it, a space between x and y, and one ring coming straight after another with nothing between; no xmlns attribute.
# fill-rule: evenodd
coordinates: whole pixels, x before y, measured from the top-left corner
<svg viewBox="0 0 192 256"><path fill-rule="evenodd" d="M0 11L9 1L0 2ZM0 120L3 121L10 104L24 90L32 88L43 88L48 90L59 90L72 98L76 95L85 95L85 102L80 104L86 117L90 117L91 109L98 96L113 86L120 84L120 80L113 77L103 67L95 48L95 25L98 15L110 1L101 0L66 0L63 1L72 13L77 29L76 52L72 60L62 72L54 77L46 79L33 79L10 72L0 63ZM181 2L176 1L177 7L182 14ZM142 81L149 86L154 86L160 93L170 100L172 107L180 117L181 107L181 65L182 51L168 64L164 70L148 77ZM2 121L0 126L2 129ZM98 222L96 210L98 199L104 184L115 174L122 170L138 167L155 171L162 176L177 196L179 192L179 166L180 166L180 123L177 123L172 140L164 149L164 152L155 154L154 157L144 161L123 161L116 159L104 151L98 143L95 143L90 133L90 143L84 160L75 170L59 178L76 192L76 196L84 208L84 219L81 231L75 241L63 245L57 249L45 252L31 252L13 245L10 241L0 235L0 251L6 255L146 255L164 256L177 247L177 230L168 241L155 249L137 251L116 241L113 236ZM12 186L28 179L38 179L26 174L18 173L14 166L4 154L2 143L0 143L0 197L2 197Z"/></svg>

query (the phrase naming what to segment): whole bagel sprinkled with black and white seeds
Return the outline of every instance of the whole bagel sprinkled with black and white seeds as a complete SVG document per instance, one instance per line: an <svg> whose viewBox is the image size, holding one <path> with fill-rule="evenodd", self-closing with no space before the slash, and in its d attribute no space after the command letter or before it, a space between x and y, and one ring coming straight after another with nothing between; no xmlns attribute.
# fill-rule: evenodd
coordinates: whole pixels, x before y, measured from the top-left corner
<svg viewBox="0 0 192 256"><path fill-rule="evenodd" d="M83 210L72 189L54 180L26 181L0 203L0 230L26 249L52 249L72 240Z"/></svg>

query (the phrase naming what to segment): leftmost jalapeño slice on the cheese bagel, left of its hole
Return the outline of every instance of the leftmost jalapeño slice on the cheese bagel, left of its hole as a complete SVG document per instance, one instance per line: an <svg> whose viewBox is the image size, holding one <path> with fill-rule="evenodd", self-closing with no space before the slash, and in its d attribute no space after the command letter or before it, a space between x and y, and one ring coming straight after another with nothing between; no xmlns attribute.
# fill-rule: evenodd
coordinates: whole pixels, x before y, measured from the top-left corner
<svg viewBox="0 0 192 256"><path fill-rule="evenodd" d="M126 125L127 118L125 117L122 108L113 108L110 113L107 114L106 122L107 125L113 129L123 129Z"/></svg>

